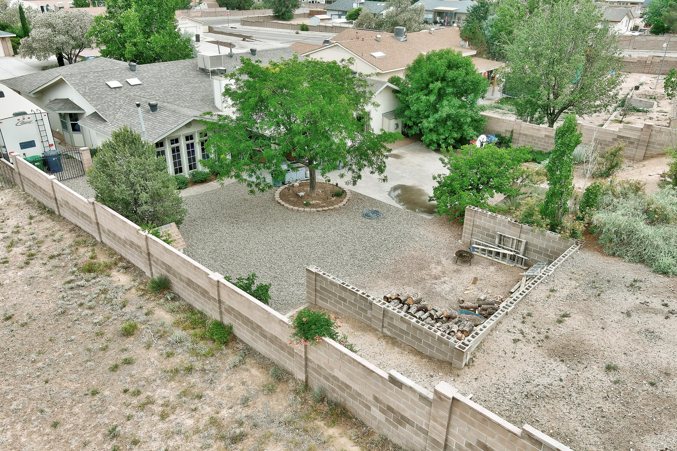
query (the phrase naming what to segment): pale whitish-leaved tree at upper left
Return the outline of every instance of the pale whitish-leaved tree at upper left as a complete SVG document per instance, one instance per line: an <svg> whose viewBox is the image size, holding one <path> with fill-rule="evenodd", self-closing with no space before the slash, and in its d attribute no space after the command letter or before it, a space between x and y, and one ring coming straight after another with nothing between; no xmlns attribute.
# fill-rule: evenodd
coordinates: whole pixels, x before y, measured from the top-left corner
<svg viewBox="0 0 677 451"><path fill-rule="evenodd" d="M19 54L49 60L56 55L59 66L73 64L84 49L91 47L89 30L93 16L79 9L60 9L36 16L32 20L30 34L21 40Z"/></svg>

